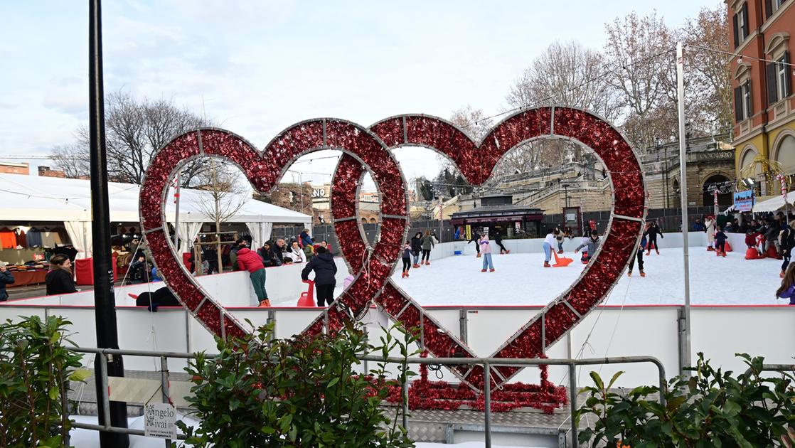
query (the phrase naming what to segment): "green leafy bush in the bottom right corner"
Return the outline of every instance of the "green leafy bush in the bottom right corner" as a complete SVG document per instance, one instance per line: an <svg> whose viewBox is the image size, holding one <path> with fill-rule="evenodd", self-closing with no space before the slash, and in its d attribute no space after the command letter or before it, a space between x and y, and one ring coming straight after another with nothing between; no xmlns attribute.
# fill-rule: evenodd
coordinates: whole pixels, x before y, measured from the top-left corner
<svg viewBox="0 0 795 448"><path fill-rule="evenodd" d="M747 372L714 369L698 353L692 375L675 377L663 391L665 406L657 397L659 388L642 386L626 395L610 392L608 384L591 372L595 386L584 388L585 404L576 411L576 421L587 415L592 428L580 432L580 443L591 446L632 448L651 446L789 446L789 428L795 423L793 375L762 377L762 357L738 353Z"/></svg>

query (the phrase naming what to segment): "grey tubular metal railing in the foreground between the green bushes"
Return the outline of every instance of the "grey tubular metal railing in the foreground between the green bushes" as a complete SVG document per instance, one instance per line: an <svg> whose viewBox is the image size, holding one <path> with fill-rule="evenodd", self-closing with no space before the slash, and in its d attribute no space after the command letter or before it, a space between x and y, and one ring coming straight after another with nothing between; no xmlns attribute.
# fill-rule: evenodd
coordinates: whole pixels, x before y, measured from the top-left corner
<svg viewBox="0 0 795 448"><path fill-rule="evenodd" d="M118 350L118 349L95 349L78 347L72 349L77 353L94 353L99 360L99 380L100 380L100 396L98 397L98 405L100 406L99 412L103 416L103 424L95 425L91 423L74 423L72 427L93 430L93 431L107 431L131 435L144 435L144 431L135 430L130 428L113 427L111 426L111 412L110 412L110 394L108 392L108 377L107 377L107 362L108 357L115 355L123 356L136 356L136 357L157 357L161 361L161 392L164 403L169 403L169 369L168 358L180 359L194 359L196 357L193 353L176 353L176 352L156 352L145 350ZM630 357L595 357L583 359L570 359L570 358L536 358L536 359L506 359L495 357L380 357L368 355L359 357L360 361L365 362L384 362L389 364L407 363L408 365L480 365L483 367L483 384L491 384L491 368L497 366L538 366L538 365L566 365L568 366L569 377L569 401L571 415L571 440L572 446L579 446L577 442L577 425L574 419L577 410L577 396L579 388L577 386L576 368L580 365L605 365L605 364L629 364L629 363L651 363L657 366L658 381L660 386L660 403L665 405L665 367L661 361L656 357L650 356L630 356ZM402 403L402 424L408 431L409 427L409 404L408 393L409 384L407 382L401 384L402 396L404 397ZM483 388L483 430L485 434L485 442L487 448L491 448L491 388ZM68 409L64 409L67 412ZM184 439L184 434L179 434L180 440ZM171 441L166 439L166 446L170 446ZM68 441L67 441L68 444Z"/></svg>

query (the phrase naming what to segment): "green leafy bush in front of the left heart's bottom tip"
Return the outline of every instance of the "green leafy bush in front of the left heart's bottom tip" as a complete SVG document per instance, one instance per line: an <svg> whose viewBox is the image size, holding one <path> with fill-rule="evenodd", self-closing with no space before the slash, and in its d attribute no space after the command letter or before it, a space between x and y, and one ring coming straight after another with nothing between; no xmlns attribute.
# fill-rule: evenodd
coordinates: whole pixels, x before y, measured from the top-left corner
<svg viewBox="0 0 795 448"><path fill-rule="evenodd" d="M359 375L357 357L399 346L404 357L413 338L387 334L382 346L349 324L338 334L270 340L260 328L242 340L217 340L219 356L199 353L186 369L195 384L188 401L199 427L177 423L193 446L413 446L403 427L386 415L390 392L386 365ZM405 363L398 380L412 375ZM379 384L379 387L373 387Z"/></svg>

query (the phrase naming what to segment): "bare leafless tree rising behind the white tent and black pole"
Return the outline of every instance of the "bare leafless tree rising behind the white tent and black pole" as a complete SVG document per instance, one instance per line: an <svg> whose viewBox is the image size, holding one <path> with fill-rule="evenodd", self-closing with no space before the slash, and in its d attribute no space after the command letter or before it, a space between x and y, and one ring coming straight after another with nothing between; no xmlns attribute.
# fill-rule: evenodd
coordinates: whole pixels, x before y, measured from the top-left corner
<svg viewBox="0 0 795 448"><path fill-rule="evenodd" d="M180 133L200 126L211 126L204 118L176 107L171 100L138 100L129 93L118 91L108 95L105 107L105 141L107 146L108 177L115 182L141 183L153 154ZM56 147L52 159L58 168L68 168L77 160L80 171L87 167L89 133L86 126L76 132L76 142ZM184 187L192 187L207 164L188 164L182 170ZM66 171L66 170L64 170ZM87 174L87 172L85 173Z"/></svg>

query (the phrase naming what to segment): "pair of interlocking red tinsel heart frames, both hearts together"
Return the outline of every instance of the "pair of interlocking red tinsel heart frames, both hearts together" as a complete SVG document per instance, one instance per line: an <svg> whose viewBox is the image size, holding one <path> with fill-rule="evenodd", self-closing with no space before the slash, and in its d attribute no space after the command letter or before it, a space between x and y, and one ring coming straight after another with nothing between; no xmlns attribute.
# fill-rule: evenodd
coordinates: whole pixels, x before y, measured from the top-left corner
<svg viewBox="0 0 795 448"><path fill-rule="evenodd" d="M370 132L371 130L371 132ZM436 356L474 353L426 315L397 288L390 276L408 229L405 180L388 148L425 146L450 157L467 181L485 182L498 160L518 145L545 137L566 138L594 150L610 176L613 214L604 241L579 279L503 344L494 357L539 357L588 315L610 292L634 250L646 215L646 194L640 162L618 130L601 118L569 107L522 110L500 122L479 144L450 122L426 115L387 118L363 129L335 119L301 122L280 133L258 153L253 145L221 129L199 129L176 137L154 157L141 192L141 218L155 264L184 307L211 333L225 337L245 330L215 299L192 281L176 261L176 251L164 231L165 187L177 168L197 156L231 160L259 191L270 191L287 166L299 156L320 149L341 149L332 187L332 217L345 260L356 280L324 316L304 332L334 330L343 319L357 317L370 302L378 304L406 328L421 330L421 344ZM379 154L380 153L380 154ZM281 167L274 172L273 166ZM246 167L246 168L244 168ZM270 168L270 169L269 169ZM380 235L374 247L366 244L356 212L356 191L368 170L381 195ZM520 368L494 367L494 384L502 384ZM479 368L453 369L475 388L483 386Z"/></svg>

